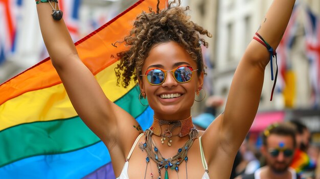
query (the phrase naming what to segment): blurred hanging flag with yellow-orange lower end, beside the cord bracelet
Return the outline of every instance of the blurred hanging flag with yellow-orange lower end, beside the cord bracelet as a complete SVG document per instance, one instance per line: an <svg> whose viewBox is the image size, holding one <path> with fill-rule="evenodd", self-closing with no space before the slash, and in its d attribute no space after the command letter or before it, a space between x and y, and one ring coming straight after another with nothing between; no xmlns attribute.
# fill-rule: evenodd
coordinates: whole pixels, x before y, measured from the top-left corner
<svg viewBox="0 0 320 179"><path fill-rule="evenodd" d="M279 75L277 83L277 91L281 91L284 96L284 104L287 108L294 106L295 99L295 74L292 68L290 52L294 44L294 38L298 29L297 17L299 15L299 7L295 5L287 29L277 48Z"/></svg>

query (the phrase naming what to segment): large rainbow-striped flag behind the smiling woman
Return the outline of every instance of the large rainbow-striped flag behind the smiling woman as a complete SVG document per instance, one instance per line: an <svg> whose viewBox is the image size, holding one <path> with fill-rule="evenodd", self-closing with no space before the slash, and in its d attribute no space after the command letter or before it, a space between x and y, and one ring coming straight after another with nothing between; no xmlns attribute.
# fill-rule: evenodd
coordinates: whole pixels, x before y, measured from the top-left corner
<svg viewBox="0 0 320 179"><path fill-rule="evenodd" d="M144 130L152 124L153 111L139 103L138 86L116 85L118 60L111 57L128 47L111 43L127 36L135 17L156 4L141 0L75 43L106 96ZM107 148L77 116L50 58L0 85L0 114L1 178L115 177Z"/></svg>

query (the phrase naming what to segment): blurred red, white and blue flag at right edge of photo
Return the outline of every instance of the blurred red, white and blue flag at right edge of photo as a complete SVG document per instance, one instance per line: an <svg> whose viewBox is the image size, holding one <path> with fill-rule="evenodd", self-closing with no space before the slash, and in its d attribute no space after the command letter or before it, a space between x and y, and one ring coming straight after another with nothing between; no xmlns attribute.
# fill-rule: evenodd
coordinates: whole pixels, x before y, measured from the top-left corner
<svg viewBox="0 0 320 179"><path fill-rule="evenodd" d="M309 59L309 76L315 107L320 105L320 19L306 8L304 23L306 34L306 54Z"/></svg>

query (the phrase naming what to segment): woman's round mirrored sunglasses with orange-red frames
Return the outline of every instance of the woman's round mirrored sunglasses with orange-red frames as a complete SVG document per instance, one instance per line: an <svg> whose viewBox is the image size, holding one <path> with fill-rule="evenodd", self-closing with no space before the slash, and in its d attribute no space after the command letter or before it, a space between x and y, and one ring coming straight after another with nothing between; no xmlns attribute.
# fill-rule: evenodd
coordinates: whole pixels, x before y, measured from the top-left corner
<svg viewBox="0 0 320 179"><path fill-rule="evenodd" d="M175 81L178 83L189 82L192 78L192 72L198 69L193 70L191 66L183 65L178 66L172 70L164 70L161 68L150 68L146 71L145 74L141 76L147 76L147 80L151 85L161 85L166 80L167 72L172 72Z"/></svg>

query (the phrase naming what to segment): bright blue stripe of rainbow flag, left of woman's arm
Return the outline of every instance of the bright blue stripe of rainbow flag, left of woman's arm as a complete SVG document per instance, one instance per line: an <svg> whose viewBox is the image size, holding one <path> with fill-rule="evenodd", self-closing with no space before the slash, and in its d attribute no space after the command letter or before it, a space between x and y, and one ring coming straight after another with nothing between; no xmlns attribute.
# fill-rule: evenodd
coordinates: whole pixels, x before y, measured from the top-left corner
<svg viewBox="0 0 320 179"><path fill-rule="evenodd" d="M65 154L22 159L0 168L1 178L81 178L110 161L103 142Z"/></svg>

